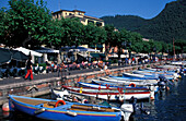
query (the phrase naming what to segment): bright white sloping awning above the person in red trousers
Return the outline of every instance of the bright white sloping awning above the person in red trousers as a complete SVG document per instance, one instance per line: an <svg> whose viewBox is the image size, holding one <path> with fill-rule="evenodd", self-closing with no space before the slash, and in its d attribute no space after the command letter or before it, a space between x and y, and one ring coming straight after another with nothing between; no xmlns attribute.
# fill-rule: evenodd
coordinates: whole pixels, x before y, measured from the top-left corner
<svg viewBox="0 0 186 121"><path fill-rule="evenodd" d="M15 50L22 51L26 56L30 56L30 52L31 52L32 56L42 57L42 53L23 48L23 47L15 48Z"/></svg>

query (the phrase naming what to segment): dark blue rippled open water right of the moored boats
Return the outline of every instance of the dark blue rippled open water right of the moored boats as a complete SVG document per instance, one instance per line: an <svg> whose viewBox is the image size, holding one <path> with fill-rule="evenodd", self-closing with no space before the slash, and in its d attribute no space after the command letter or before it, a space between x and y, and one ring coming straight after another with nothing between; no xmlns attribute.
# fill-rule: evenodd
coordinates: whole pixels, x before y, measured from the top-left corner
<svg viewBox="0 0 186 121"><path fill-rule="evenodd" d="M186 118L186 77L174 82L170 92L155 95L155 100L144 102L151 114L135 116L137 121L184 121Z"/></svg>

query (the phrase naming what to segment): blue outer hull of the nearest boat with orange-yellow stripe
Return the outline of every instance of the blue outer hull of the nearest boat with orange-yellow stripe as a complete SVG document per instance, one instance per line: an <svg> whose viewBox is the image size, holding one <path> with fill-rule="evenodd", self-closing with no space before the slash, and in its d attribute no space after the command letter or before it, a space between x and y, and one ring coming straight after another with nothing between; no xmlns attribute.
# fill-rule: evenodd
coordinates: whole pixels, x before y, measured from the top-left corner
<svg viewBox="0 0 186 121"><path fill-rule="evenodd" d="M38 101L37 99L35 101ZM46 100L48 101L48 100ZM66 108L44 108L40 105L33 106L16 101L12 96L10 96L9 104L13 110L19 110L24 113L27 113L33 117L37 117L39 119L45 120L56 120L56 121L119 121L121 119L120 111L118 112L96 112L96 111L75 111L75 110L68 110ZM36 113L40 109L45 109L45 111L40 113ZM77 116L71 116L69 113L77 113Z"/></svg>

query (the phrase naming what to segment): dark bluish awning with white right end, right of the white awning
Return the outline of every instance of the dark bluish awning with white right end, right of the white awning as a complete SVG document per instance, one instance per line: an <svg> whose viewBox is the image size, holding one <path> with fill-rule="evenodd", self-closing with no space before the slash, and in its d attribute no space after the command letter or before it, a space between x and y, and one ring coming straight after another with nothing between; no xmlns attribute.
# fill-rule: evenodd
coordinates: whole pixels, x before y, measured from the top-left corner
<svg viewBox="0 0 186 121"><path fill-rule="evenodd" d="M40 53L59 53L59 50L55 50L51 48L45 48L45 47L39 47L34 49L34 51L40 52Z"/></svg>

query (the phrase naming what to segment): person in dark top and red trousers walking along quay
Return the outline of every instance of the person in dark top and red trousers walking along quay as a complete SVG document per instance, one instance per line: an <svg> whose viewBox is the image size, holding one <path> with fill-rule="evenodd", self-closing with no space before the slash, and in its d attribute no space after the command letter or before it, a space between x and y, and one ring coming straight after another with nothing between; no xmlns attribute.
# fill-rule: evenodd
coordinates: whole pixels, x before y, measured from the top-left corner
<svg viewBox="0 0 186 121"><path fill-rule="evenodd" d="M28 76L31 77L30 80L33 80L33 66L32 66L32 62L31 62L31 57L28 58L27 62L26 62L26 70L27 73L25 75L25 80L28 78Z"/></svg>

